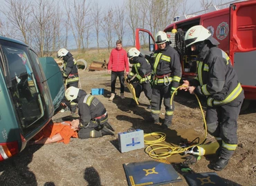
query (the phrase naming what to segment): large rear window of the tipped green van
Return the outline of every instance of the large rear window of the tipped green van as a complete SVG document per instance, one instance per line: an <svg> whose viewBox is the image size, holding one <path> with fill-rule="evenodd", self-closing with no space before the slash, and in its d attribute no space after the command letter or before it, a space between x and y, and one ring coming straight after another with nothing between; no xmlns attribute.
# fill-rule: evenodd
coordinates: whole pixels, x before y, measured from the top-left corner
<svg viewBox="0 0 256 186"><path fill-rule="evenodd" d="M2 50L8 66L8 89L23 132L35 129L33 123L42 118L44 110L39 95L28 48L12 42L3 42ZM30 129L30 130L28 130Z"/></svg>

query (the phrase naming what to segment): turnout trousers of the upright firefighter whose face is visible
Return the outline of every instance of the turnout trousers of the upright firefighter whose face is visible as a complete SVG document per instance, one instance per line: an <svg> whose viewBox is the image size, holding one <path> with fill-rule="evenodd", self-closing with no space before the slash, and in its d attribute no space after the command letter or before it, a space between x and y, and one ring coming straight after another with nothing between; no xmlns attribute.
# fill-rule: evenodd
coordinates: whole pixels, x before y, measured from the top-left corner
<svg viewBox="0 0 256 186"><path fill-rule="evenodd" d="M170 127L172 125L172 116L174 112L174 102L172 102L172 107L170 104L171 100L171 87L172 85L153 85L152 88L152 118L158 121L159 114L161 113L161 104L165 105L165 121L164 125Z"/></svg>

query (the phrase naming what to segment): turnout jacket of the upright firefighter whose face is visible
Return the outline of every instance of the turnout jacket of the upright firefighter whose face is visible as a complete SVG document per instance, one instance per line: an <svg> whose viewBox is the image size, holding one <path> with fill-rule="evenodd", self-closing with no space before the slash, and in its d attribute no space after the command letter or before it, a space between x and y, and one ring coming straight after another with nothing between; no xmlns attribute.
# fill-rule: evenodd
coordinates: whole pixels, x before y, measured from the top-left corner
<svg viewBox="0 0 256 186"><path fill-rule="evenodd" d="M179 86L182 74L180 56L170 45L167 45L163 50L158 49L154 52L154 64L152 68L155 75L154 84L161 85L166 81L170 81L172 82L172 91Z"/></svg>

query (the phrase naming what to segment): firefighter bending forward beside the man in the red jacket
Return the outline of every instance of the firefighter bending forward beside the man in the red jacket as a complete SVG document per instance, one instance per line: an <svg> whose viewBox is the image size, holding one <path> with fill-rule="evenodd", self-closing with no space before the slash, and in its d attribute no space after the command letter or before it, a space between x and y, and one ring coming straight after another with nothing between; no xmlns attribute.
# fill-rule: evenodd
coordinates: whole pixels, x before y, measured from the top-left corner
<svg viewBox="0 0 256 186"><path fill-rule="evenodd" d="M149 106L147 108L150 109L152 97L152 87L150 85L152 73L151 65L136 48L131 48L127 53L127 56L129 62L133 64L131 72L129 72L129 75L127 76L127 83L136 84L135 92L137 101L140 98L141 92L145 92L145 96L149 100ZM132 99L130 106L136 106L136 101L134 101L134 99Z"/></svg>

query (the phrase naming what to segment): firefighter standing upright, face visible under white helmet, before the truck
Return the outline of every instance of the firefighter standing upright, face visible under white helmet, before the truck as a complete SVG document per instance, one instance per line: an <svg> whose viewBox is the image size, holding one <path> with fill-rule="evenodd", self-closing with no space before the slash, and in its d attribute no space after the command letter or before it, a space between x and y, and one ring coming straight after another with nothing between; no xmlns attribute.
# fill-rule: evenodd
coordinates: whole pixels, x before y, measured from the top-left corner
<svg viewBox="0 0 256 186"><path fill-rule="evenodd" d="M159 123L159 114L161 112L161 103L165 105L165 121L163 129L172 125L172 116L174 112L174 103L172 107L170 98L174 90L179 86L181 80L181 62L180 56L174 48L170 46L170 40L167 34L159 31L156 34L156 43L158 50L154 52L154 79L152 80L152 120Z"/></svg>

